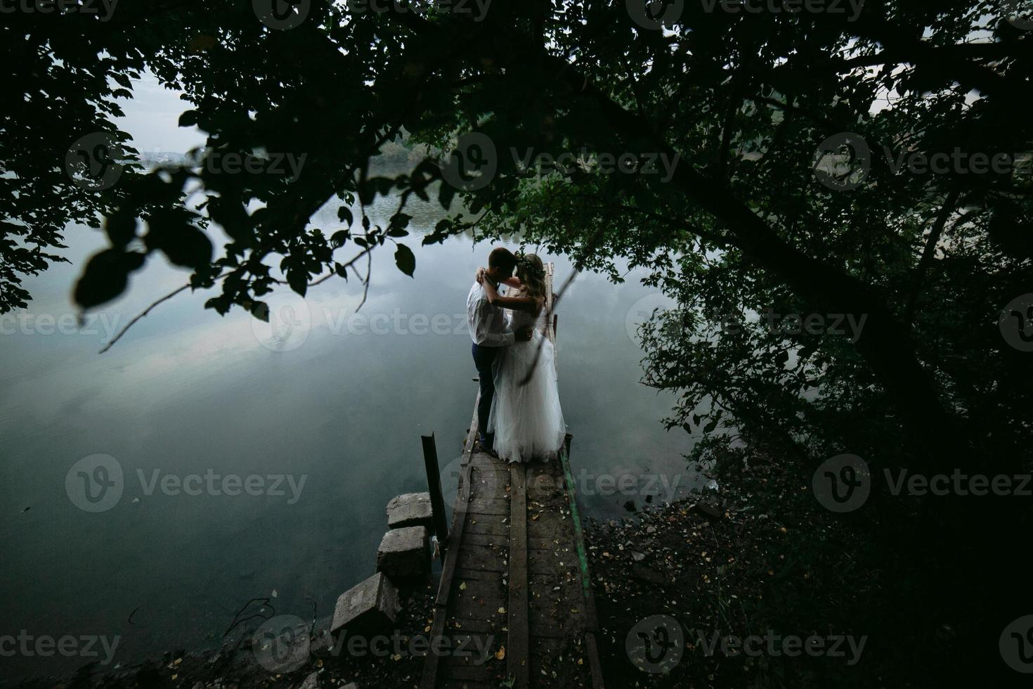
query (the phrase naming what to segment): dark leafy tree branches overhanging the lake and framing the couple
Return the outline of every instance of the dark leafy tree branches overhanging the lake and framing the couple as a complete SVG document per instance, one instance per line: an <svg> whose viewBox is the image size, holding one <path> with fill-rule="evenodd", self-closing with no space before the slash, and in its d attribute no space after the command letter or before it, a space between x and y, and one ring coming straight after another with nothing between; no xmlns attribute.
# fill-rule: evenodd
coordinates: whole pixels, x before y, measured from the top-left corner
<svg viewBox="0 0 1033 689"><path fill-rule="evenodd" d="M25 306L19 274L82 222L111 240L76 286L82 307L159 251L219 290L210 308L268 317L263 294L368 279L380 246L412 274L406 200L458 196L465 213L425 242L521 232L615 279L615 257L654 269L679 308L644 328L646 380L676 390L669 422L710 443L762 438L797 468L840 451L948 473L1028 461L1033 305L1013 301L1033 291L1033 23L1013 3L261 5L5 14L0 310ZM208 133L206 155L304 165L127 163L108 184L115 145L134 152L107 118L145 70L184 92L181 124ZM98 132L100 149L73 144ZM371 171L403 136L456 152ZM66 165L69 147L86 155ZM349 210L376 195L400 202L386 227ZM340 225L312 226L331 202ZM215 227L229 238L218 251ZM785 314L822 320L782 327ZM930 552L971 567L949 586L1015 582L1015 543L977 536L1026 519L1015 502L933 509ZM1007 619L995 608L987 628Z"/></svg>

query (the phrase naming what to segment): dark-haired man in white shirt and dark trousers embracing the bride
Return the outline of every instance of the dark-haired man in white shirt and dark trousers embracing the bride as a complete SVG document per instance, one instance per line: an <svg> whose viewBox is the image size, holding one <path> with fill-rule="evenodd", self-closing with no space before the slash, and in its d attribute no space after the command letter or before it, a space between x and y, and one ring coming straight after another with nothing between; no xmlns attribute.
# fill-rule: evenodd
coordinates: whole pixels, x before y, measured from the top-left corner
<svg viewBox="0 0 1033 689"><path fill-rule="evenodd" d="M499 284L513 275L516 268L516 257L503 247L493 249L488 255L488 270L484 279L491 280L498 289ZM466 297L466 321L473 340L473 365L480 378L480 401L477 403L477 435L480 447L491 453L495 452L495 434L488 433L488 417L492 411L492 400L495 398L495 379L492 375L492 363L502 347L512 345L516 340L531 339L532 330L524 327L513 333L507 330L505 312L501 307L493 306L484 294L484 288L478 282L473 283L470 294Z"/></svg>

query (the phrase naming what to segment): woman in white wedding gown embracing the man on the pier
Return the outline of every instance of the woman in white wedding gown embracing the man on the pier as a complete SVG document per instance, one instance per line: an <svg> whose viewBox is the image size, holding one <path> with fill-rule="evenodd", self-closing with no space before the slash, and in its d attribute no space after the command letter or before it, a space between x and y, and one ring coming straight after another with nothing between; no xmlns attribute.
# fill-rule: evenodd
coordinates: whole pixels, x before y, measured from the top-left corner
<svg viewBox="0 0 1033 689"><path fill-rule="evenodd" d="M499 294L496 285L484 279L483 269L477 272L477 282L493 306L507 310L510 330L533 326L530 341L506 347L495 359L495 399L488 421L488 432L495 433L495 450L507 462L547 462L557 457L567 427L560 409L553 343L541 334L545 269L536 255L518 254L516 276L506 281L516 288L513 296Z"/></svg>

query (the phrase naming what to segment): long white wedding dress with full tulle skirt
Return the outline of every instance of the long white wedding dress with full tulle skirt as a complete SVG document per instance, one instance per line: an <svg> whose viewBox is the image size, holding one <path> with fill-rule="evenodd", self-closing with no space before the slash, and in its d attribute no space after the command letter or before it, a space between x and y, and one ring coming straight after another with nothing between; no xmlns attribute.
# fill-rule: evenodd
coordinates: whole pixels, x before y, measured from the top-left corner
<svg viewBox="0 0 1033 689"><path fill-rule="evenodd" d="M549 461L557 456L567 433L553 343L541 334L544 315L535 318L526 311L509 311L507 318L513 331L534 325L534 336L529 342L505 347L495 358L495 399L488 431L495 434L495 451L502 460ZM534 372L522 385L532 365Z"/></svg>

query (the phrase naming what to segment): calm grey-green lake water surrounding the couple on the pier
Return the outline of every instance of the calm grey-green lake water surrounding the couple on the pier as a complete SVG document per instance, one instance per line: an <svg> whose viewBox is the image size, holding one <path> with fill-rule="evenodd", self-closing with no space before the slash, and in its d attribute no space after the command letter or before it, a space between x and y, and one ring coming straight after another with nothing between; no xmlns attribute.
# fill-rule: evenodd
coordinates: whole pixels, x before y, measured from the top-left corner
<svg viewBox="0 0 1033 689"><path fill-rule="evenodd" d="M374 221L394 208L376 207ZM359 287L342 280L305 300L273 297L271 325L240 310L220 317L202 308L211 293L185 292L104 354L112 332L187 274L152 260L131 293L75 332L70 286L105 241L69 229L62 253L73 263L27 280L30 308L0 319L0 637L117 637L114 664L216 646L251 598L271 597L277 614L328 615L373 573L386 502L426 490L421 434L437 436L450 502L476 392L465 300L491 246L419 248L441 211L409 212L415 278L376 251L358 314ZM314 224L336 228L334 208ZM542 257L569 274L563 257ZM629 322L662 303L639 277L615 286L583 274L558 308L561 399L593 515L691 482L691 438L660 422L672 398L638 382ZM111 482L118 470L116 502L113 489L106 503L84 503L86 478ZM609 482L623 475L634 477L628 495ZM223 491L225 476L241 484ZM43 657L30 643L0 657L0 678L86 660Z"/></svg>

